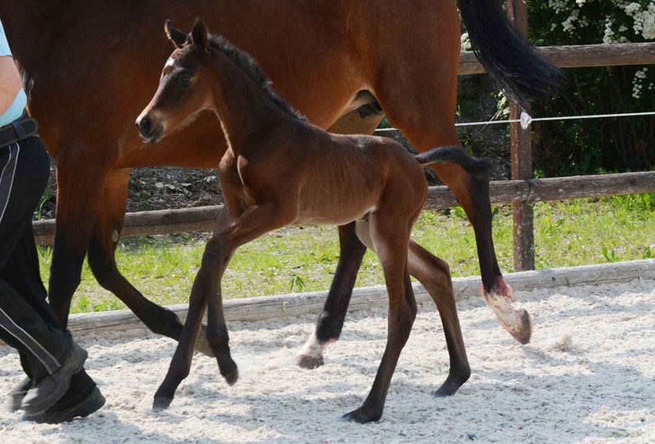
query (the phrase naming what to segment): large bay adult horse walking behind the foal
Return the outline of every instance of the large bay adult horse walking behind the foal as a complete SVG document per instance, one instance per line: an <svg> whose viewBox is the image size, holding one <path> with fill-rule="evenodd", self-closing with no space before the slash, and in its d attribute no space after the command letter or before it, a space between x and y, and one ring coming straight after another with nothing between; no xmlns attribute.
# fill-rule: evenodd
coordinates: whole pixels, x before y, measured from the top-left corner
<svg viewBox="0 0 655 444"><path fill-rule="evenodd" d="M460 8L482 61L509 94L540 96L552 86L552 66L516 36L497 0L460 0ZM371 133L386 115L419 151L459 143L460 21L452 0L0 0L0 12L30 112L57 159L49 298L64 324L88 251L98 283L150 330L174 339L182 332L175 314L143 297L114 260L130 168L216 168L226 149L208 113L141 149L134 119L168 57L161 42L168 17L184 28L204 17L260 62L283 98L331 132ZM486 182L454 164L434 168L473 224L485 299L516 339L529 340L530 318L511 307L496 260ZM340 227L340 240L342 259L314 341L320 350L340 334L365 251L350 226ZM516 316L508 323L503 310Z"/></svg>

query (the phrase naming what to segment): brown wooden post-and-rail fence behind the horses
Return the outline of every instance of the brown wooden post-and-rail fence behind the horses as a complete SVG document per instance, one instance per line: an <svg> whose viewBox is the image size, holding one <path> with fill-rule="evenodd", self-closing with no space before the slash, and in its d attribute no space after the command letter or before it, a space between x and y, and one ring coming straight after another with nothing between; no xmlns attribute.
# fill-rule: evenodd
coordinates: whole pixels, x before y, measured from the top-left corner
<svg viewBox="0 0 655 444"><path fill-rule="evenodd" d="M527 29L527 8L521 0L508 0L507 11L522 33ZM616 66L655 64L655 43L600 44L579 46L544 46L538 53L562 68L585 66ZM464 51L460 58L460 75L484 73L484 68L472 52ZM517 118L521 109L512 106L510 118ZM545 200L576 197L599 197L636 193L655 193L655 172L634 172L618 175L590 175L532 179L532 148L530 129L518 123L510 125L512 180L491 182L492 203L512 203L514 206L514 269L534 269L534 229L532 204ZM426 208L446 208L457 205L446 187L430 187ZM125 215L122 236L211 231L220 206L146 211ZM34 222L35 237L40 244L51 244L54 220Z"/></svg>

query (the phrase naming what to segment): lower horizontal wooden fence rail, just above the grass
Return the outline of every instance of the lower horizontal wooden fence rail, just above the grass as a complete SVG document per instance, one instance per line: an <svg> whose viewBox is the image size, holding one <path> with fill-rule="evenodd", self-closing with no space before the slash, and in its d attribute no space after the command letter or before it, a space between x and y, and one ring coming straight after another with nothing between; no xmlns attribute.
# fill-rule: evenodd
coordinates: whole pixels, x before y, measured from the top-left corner
<svg viewBox="0 0 655 444"><path fill-rule="evenodd" d="M566 200L577 197L601 197L623 194L655 193L655 172L624 172L611 175L554 177L550 179L504 180L489 184L489 197L495 204ZM426 208L450 208L459 205L445 186L428 189ZM123 238L153 234L211 231L222 206L200 206L173 210L127 213ZM55 221L33 223L37 243L49 245L55 234Z"/></svg>

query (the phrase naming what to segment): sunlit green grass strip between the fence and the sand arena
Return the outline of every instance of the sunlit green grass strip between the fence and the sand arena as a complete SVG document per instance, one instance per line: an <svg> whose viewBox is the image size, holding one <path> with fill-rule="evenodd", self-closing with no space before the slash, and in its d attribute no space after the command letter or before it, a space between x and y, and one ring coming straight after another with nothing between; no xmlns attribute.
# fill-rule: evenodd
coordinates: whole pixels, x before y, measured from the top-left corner
<svg viewBox="0 0 655 444"><path fill-rule="evenodd" d="M494 240L503 272L512 272L512 213L494 208ZM479 274L473 230L462 211L425 211L413 238L451 265L453 276ZM534 238L537 269L655 257L655 195L590 201L539 202ZM204 238L188 235L124 240L116 251L119 269L143 294L160 304L186 303L204 249ZM329 288L338 260L333 227L290 227L237 251L223 279L226 299ZM51 250L42 248L47 282ZM383 284L382 269L367 252L357 286ZM103 290L88 265L72 312L119 310L124 305Z"/></svg>

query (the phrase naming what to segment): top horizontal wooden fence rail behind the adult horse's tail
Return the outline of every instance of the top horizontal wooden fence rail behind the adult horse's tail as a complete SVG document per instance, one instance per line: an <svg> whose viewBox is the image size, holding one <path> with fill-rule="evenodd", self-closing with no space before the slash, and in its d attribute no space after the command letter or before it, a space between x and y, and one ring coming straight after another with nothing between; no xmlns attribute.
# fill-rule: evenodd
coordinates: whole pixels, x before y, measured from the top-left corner
<svg viewBox="0 0 655 444"><path fill-rule="evenodd" d="M655 64L655 43L539 46L536 52L560 68ZM460 76L486 72L473 51L462 51Z"/></svg>

